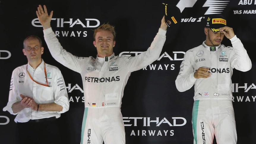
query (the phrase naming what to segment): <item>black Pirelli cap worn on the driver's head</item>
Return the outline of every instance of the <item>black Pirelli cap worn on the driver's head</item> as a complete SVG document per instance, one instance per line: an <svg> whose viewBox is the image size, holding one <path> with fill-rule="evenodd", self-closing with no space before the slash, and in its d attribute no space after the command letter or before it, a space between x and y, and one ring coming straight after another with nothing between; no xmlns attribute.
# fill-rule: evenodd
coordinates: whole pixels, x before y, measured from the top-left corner
<svg viewBox="0 0 256 144"><path fill-rule="evenodd" d="M213 32L219 32L219 28L227 25L227 20L219 14L209 15L206 19L206 28L210 28Z"/></svg>

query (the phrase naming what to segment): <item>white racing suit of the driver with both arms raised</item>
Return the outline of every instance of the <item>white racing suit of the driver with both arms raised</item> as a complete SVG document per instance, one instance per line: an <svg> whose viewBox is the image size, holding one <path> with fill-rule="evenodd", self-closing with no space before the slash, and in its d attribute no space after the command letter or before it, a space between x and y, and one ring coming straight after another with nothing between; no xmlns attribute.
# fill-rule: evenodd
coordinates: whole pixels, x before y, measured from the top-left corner
<svg viewBox="0 0 256 144"><path fill-rule="evenodd" d="M81 144L124 144L121 114L124 87L131 72L159 58L166 39L159 29L147 51L138 56L77 57L64 50L51 28L44 30L51 55L65 67L81 74L85 98Z"/></svg>

